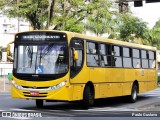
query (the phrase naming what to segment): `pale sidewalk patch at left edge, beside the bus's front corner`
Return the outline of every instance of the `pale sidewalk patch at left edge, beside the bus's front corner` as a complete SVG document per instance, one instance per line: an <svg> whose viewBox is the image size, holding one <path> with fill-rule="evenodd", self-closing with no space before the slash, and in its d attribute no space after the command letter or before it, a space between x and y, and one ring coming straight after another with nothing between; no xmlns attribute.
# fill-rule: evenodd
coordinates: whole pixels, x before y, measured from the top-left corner
<svg viewBox="0 0 160 120"><path fill-rule="evenodd" d="M10 84L11 84L11 81L8 80L7 76L5 77L1 76L0 77L0 92L10 92L11 91Z"/></svg>

